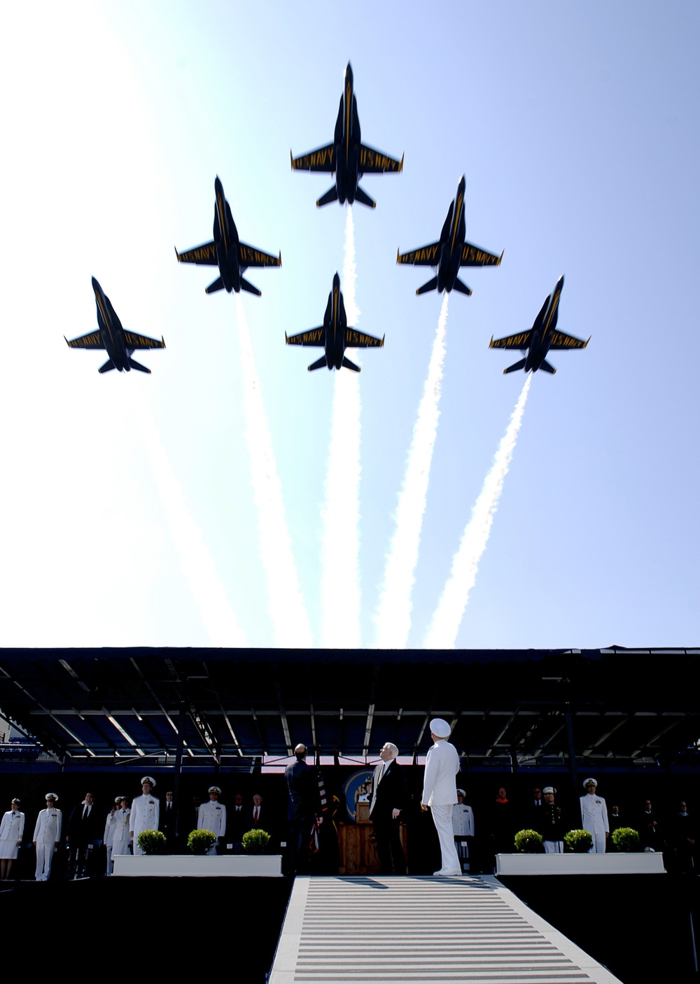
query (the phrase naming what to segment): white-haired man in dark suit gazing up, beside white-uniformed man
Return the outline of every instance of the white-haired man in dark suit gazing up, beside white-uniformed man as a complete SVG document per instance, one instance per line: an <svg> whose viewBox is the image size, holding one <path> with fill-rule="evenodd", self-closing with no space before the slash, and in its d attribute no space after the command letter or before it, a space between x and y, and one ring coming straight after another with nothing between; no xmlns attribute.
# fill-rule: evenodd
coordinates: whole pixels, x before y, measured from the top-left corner
<svg viewBox="0 0 700 984"><path fill-rule="evenodd" d="M374 769L372 777L369 819L374 825L381 875L406 874L400 830L401 813L406 807L406 779L396 761L398 755L396 745L387 742L379 753L381 764Z"/></svg>

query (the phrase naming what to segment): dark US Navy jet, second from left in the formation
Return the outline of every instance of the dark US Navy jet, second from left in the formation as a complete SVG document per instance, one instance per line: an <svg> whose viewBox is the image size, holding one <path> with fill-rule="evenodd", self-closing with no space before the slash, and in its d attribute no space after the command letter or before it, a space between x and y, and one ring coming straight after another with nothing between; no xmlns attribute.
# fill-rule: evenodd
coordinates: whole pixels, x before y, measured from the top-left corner
<svg viewBox="0 0 700 984"><path fill-rule="evenodd" d="M221 277L217 277L214 283L209 284L206 288L208 294L225 288L228 293L231 290L235 290L236 293L247 290L248 293L260 297L258 288L249 283L243 274L248 267L282 267L282 253L280 256L271 256L256 249L255 246L240 242L230 206L223 197L223 185L219 175L214 182L214 191L217 196L214 206L214 242L195 246L194 249L188 249L184 253L178 253L175 247L175 255L180 263L219 267Z"/></svg>

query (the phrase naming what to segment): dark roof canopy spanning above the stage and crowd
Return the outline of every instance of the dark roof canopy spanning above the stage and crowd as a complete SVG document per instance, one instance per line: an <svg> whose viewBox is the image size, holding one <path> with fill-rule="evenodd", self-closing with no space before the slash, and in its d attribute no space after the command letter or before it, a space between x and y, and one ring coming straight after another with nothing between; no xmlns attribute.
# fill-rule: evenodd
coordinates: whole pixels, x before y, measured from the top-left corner
<svg viewBox="0 0 700 984"><path fill-rule="evenodd" d="M473 768L677 765L700 737L700 649L2 649L0 709L62 761L424 754L453 724ZM643 696L640 698L640 694ZM194 765L194 763L192 763ZM242 762L241 762L242 764ZM144 763L142 761L141 765ZM568 768L568 766L566 766Z"/></svg>

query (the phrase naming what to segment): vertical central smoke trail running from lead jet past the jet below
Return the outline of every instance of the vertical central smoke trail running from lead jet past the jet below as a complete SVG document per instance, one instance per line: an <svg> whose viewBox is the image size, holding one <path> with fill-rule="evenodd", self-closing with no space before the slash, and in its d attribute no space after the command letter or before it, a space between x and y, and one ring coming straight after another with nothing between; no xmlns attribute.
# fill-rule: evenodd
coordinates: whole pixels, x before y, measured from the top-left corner
<svg viewBox="0 0 700 984"><path fill-rule="evenodd" d="M342 289L350 327L359 318L354 283L354 229L349 208ZM355 356L353 360L357 361ZM329 648L359 646L358 376L350 369L341 369L334 373L333 379L331 447L321 543L321 638L322 645Z"/></svg>

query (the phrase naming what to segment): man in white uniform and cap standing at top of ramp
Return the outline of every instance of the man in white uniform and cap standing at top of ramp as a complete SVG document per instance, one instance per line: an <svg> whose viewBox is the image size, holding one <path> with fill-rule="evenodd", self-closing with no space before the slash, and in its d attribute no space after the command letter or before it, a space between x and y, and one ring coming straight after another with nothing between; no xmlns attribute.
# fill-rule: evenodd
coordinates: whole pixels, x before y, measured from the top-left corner
<svg viewBox="0 0 700 984"><path fill-rule="evenodd" d="M442 867L433 874L446 878L462 874L452 832L452 807L457 802L455 776L460 770L460 757L455 746L447 741L450 737L450 725L441 717L433 717L430 721L430 737L435 744L428 749L425 759L420 808L427 810L430 807L435 830L440 838Z"/></svg>

